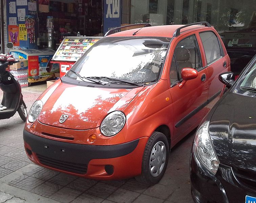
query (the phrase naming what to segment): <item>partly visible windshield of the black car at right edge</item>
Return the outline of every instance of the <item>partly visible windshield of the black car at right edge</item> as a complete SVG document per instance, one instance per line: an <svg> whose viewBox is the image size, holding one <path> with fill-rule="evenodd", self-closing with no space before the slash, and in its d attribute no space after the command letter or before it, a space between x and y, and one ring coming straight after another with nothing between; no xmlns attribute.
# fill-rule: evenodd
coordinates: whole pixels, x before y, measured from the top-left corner
<svg viewBox="0 0 256 203"><path fill-rule="evenodd" d="M234 89L235 93L256 97L256 61L250 66Z"/></svg>

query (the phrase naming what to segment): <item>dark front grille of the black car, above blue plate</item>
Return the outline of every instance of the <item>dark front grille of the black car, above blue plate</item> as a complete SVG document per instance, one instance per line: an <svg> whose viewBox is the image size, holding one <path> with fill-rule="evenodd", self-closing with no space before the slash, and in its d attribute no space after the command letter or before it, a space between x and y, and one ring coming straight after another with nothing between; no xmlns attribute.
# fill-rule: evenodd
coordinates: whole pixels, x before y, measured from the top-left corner
<svg viewBox="0 0 256 203"><path fill-rule="evenodd" d="M256 172L252 170L245 170L242 168L232 167L232 171L237 180L244 186L255 190L256 189Z"/></svg>

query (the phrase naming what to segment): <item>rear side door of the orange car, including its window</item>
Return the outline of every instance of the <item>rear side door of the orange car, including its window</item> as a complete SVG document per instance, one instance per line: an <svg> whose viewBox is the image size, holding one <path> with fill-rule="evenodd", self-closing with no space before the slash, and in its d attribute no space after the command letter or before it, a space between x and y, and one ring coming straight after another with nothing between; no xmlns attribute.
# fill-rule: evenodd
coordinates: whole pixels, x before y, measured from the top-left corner
<svg viewBox="0 0 256 203"><path fill-rule="evenodd" d="M199 40L201 40L204 52L205 52L205 63L208 70L208 106L207 111L216 103L219 99L219 94L223 87L223 84L219 81L218 76L220 73L228 71L229 61L224 55L220 39L216 33L208 30L199 32Z"/></svg>

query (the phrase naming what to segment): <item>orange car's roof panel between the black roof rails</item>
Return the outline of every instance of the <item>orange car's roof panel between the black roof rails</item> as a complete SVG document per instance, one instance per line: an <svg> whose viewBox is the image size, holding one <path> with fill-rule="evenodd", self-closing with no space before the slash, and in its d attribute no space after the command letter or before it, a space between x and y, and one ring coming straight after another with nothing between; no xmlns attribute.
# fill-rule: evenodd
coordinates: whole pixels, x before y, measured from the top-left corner
<svg viewBox="0 0 256 203"><path fill-rule="evenodd" d="M108 35L106 37L130 37L133 36L132 34L139 29L140 31L136 32L136 35L134 37L173 37L173 33L176 29L179 27L182 27L184 25L159 25L159 26L150 26L150 27L142 27L142 28L135 28L135 29L129 29L124 30L121 32L116 32L111 35ZM185 28L181 29L181 32L187 31L187 30L194 30L194 29L203 29L203 28L209 28L204 25L191 25Z"/></svg>

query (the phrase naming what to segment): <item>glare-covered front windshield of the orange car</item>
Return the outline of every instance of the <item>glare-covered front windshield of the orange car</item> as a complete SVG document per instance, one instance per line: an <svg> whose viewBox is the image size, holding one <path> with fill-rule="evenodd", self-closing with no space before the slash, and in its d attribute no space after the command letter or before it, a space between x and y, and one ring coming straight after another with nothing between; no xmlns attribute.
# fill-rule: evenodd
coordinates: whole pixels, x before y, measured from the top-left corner
<svg viewBox="0 0 256 203"><path fill-rule="evenodd" d="M160 76L170 40L159 37L105 37L88 49L66 76L93 82L86 79L90 78L106 84L155 82Z"/></svg>

